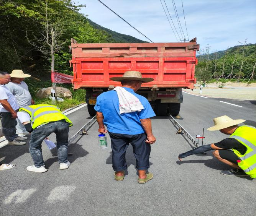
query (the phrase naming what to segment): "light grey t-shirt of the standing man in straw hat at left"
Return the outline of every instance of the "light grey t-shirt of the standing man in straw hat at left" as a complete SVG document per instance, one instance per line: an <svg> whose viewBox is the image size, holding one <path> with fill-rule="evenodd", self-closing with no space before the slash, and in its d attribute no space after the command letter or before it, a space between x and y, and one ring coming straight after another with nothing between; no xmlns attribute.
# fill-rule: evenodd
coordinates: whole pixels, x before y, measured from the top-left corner
<svg viewBox="0 0 256 216"><path fill-rule="evenodd" d="M25 82L22 81L20 84L10 82L6 84L6 87L15 96L19 107L31 105L32 97L28 91L28 85Z"/></svg>

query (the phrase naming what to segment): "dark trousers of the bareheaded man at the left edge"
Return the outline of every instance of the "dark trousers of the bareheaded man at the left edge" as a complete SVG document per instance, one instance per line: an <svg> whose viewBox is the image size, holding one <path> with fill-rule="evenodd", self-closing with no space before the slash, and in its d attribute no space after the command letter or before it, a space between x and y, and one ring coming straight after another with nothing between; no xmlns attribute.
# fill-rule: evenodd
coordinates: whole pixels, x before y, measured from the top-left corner
<svg viewBox="0 0 256 216"><path fill-rule="evenodd" d="M0 112L2 123L2 133L8 141L13 141L18 135L16 134L16 119L11 117L10 112Z"/></svg>

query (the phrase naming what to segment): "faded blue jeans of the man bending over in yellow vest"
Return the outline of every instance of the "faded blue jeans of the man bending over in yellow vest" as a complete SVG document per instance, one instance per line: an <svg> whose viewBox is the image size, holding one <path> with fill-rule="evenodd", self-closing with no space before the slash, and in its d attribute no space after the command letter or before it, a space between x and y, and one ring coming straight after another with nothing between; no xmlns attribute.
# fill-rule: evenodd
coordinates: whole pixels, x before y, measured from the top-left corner
<svg viewBox="0 0 256 216"><path fill-rule="evenodd" d="M59 163L67 162L69 123L67 123L65 120L61 120L37 127L31 133L30 154L34 161L34 166L36 167L44 166L42 142L51 133L56 134Z"/></svg>

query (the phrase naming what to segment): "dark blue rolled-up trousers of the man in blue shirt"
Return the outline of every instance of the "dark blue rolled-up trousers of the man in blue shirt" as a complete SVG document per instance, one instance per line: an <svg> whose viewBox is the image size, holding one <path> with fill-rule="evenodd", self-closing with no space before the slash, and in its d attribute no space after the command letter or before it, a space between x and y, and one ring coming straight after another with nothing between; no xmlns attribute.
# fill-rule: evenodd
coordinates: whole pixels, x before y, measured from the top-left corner
<svg viewBox="0 0 256 216"><path fill-rule="evenodd" d="M136 135L108 133L111 138L112 167L114 171L123 171L127 169L125 152L129 143L133 146L133 154L136 158L136 168L138 170L146 170L149 168L151 146L145 142L147 138L145 133Z"/></svg>

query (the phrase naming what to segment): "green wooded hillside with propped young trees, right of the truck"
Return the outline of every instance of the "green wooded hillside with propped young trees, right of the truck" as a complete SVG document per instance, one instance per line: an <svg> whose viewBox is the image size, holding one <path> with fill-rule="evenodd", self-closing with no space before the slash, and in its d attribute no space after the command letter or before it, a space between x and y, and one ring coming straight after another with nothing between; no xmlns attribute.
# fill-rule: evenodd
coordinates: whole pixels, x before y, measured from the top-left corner
<svg viewBox="0 0 256 216"><path fill-rule="evenodd" d="M212 78L217 80L220 78L249 80L251 78L250 81L255 79L255 75L251 75L255 70L256 44L245 43L212 54L209 54L209 48L206 47L203 52L203 55L197 55L199 63L195 74L198 80L205 82Z"/></svg>

